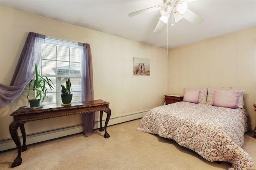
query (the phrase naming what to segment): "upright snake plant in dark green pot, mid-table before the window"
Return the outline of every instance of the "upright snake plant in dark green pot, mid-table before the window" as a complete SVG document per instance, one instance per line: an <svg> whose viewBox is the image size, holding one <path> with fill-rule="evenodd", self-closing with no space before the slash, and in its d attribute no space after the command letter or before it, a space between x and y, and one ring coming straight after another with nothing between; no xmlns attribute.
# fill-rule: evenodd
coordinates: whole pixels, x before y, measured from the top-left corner
<svg viewBox="0 0 256 170"><path fill-rule="evenodd" d="M66 80L66 87L64 85L61 84L61 100L63 104L71 104L71 100L72 100L72 96L73 94L71 94L71 82L70 82L70 78L68 78L68 80Z"/></svg>

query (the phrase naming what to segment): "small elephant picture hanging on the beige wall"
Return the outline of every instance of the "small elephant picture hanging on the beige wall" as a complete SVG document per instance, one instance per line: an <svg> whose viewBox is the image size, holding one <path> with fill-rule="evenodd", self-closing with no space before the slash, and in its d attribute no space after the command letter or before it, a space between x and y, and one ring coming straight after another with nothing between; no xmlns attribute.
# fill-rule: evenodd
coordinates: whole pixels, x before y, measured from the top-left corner
<svg viewBox="0 0 256 170"><path fill-rule="evenodd" d="M142 59L133 57L133 75L149 76L150 75L150 59Z"/></svg>

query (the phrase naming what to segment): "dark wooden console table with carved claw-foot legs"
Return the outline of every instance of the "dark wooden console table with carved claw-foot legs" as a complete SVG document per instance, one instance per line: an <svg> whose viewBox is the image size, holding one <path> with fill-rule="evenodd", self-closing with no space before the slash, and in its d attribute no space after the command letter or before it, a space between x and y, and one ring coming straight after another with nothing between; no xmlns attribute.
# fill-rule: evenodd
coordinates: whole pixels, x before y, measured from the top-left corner
<svg viewBox="0 0 256 170"><path fill-rule="evenodd" d="M24 123L26 123L27 121L35 121L54 117L62 117L100 111L99 130L104 131L104 128L102 127L102 114L104 111L107 113L104 138L108 138L109 134L107 133L107 125L111 115L111 110L110 108L108 108L108 104L108 102L105 102L103 100L91 100L86 102L74 102L69 106L61 106L60 104L50 104L37 109L20 107L18 110L14 111L11 114L11 116L13 116L13 121L9 126L10 135L18 149L18 156L13 161L12 167L19 166L22 163L21 152L27 150L26 132L24 127ZM20 131L22 133L22 146L17 132L18 127L20 127Z"/></svg>

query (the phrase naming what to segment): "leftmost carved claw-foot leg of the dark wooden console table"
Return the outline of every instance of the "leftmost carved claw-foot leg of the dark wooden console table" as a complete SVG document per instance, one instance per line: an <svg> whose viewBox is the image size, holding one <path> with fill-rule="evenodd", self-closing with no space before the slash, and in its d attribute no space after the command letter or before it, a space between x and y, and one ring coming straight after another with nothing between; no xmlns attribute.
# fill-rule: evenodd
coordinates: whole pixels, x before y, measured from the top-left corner
<svg viewBox="0 0 256 170"><path fill-rule="evenodd" d="M24 123L26 123L26 121L23 121L23 122L12 121L12 123L9 126L10 135L11 135L11 137L12 137L12 139L13 139L13 141L14 141L15 145L17 146L17 149L18 149L18 155L17 155L17 157L14 159L14 161L12 163L12 167L19 166L22 163L21 143L20 143L20 138L18 136L17 130L18 130L18 127L20 127L22 125L23 125L23 128L24 128ZM25 141L26 141L26 139L25 139Z"/></svg>

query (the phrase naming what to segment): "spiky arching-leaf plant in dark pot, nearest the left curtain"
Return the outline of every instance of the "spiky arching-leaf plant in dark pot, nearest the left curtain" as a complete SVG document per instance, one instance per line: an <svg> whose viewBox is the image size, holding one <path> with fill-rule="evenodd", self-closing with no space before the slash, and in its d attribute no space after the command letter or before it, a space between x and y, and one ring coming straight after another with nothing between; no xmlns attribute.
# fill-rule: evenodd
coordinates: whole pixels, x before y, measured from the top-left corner
<svg viewBox="0 0 256 170"><path fill-rule="evenodd" d="M46 76L41 76L40 74L38 74L36 64L35 64L35 72L36 72L35 79L30 80L29 90L27 92L27 98L28 98L30 107L38 107L41 105L41 102L44 101L44 98L46 97L47 92L48 92L48 90L46 88L46 84L48 84L48 86L50 87L51 90L54 89L54 87L55 87L52 80L50 80ZM33 84L33 86L32 86L32 84ZM31 90L36 91L36 95L35 95L34 99L29 100L29 92Z"/></svg>

